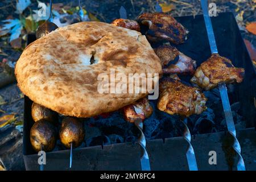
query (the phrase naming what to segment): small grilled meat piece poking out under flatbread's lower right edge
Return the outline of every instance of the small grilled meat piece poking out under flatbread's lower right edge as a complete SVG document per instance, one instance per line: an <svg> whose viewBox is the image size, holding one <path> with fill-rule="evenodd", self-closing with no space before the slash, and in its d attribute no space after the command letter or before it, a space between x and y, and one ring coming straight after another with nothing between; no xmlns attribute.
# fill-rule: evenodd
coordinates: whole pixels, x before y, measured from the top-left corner
<svg viewBox="0 0 256 182"><path fill-rule="evenodd" d="M123 107L123 115L126 121L133 123L135 119L144 119L150 117L153 112L153 107L150 105L147 98L142 98L134 104L127 105Z"/></svg>

